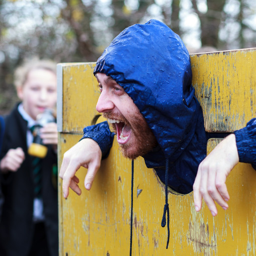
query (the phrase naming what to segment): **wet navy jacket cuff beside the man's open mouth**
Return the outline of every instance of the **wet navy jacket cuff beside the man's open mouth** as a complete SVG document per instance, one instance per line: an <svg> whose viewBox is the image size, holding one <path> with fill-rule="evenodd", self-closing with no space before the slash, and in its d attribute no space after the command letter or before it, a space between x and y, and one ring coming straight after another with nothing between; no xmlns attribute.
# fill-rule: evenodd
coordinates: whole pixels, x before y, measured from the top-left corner
<svg viewBox="0 0 256 256"><path fill-rule="evenodd" d="M107 121L85 127L82 139L85 138L94 140L100 147L102 159L107 158L114 139L114 133L110 132Z"/></svg>

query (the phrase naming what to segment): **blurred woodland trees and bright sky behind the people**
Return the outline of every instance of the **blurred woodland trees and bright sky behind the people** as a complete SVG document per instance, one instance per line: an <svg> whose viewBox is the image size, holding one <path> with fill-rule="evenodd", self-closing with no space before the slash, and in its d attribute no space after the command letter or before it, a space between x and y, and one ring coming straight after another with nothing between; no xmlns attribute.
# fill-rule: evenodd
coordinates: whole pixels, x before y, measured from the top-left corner
<svg viewBox="0 0 256 256"><path fill-rule="evenodd" d="M13 73L24 59L96 61L124 28L150 19L190 53L256 47L255 0L0 0L0 114L18 100Z"/></svg>

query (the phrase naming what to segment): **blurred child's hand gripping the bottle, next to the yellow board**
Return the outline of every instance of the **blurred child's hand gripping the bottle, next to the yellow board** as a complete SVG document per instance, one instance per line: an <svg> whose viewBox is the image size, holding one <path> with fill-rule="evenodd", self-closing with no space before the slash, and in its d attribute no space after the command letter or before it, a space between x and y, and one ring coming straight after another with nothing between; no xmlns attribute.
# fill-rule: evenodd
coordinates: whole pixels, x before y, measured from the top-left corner
<svg viewBox="0 0 256 256"><path fill-rule="evenodd" d="M40 129L41 138L43 144L48 145L52 144L57 146L58 144L58 132L57 132L57 123L49 122L43 128Z"/></svg>

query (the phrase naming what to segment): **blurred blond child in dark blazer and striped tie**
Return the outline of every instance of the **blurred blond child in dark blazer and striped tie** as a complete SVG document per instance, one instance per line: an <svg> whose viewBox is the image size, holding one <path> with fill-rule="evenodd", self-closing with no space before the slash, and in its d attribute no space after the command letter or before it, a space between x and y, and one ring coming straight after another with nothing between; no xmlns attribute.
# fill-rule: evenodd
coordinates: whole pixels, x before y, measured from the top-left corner
<svg viewBox="0 0 256 256"><path fill-rule="evenodd" d="M22 102L5 118L0 158L5 197L0 222L0 255L57 256L56 122L47 123L40 130L43 144L48 147L46 157L38 159L28 154L33 142L31 128L38 114L56 107L56 64L46 60L26 62L15 72L15 85ZM37 181L35 160L40 174Z"/></svg>

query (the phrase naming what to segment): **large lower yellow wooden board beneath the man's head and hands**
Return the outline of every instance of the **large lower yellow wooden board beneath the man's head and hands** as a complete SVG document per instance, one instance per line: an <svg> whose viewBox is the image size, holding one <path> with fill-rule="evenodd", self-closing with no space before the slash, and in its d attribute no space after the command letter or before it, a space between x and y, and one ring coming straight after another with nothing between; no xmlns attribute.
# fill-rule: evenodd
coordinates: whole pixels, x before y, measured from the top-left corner
<svg viewBox="0 0 256 256"><path fill-rule="evenodd" d="M61 153L79 139L63 134ZM209 147L215 146L214 141ZM78 171L82 195L71 191L62 200L63 248L60 255L123 255L129 253L131 162L114 143L102 161L92 190L83 186L86 170ZM164 186L147 169L143 159L135 162L133 255L255 255L256 172L239 164L227 179L229 209L218 208L212 217L203 204L194 211L193 194L169 193L171 238L166 246L166 229L161 227L165 201ZM142 192L137 196L137 190ZM60 188L61 190L61 188ZM61 193L60 193L61 194Z"/></svg>

